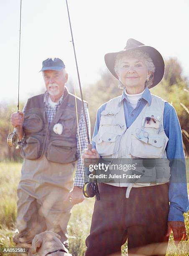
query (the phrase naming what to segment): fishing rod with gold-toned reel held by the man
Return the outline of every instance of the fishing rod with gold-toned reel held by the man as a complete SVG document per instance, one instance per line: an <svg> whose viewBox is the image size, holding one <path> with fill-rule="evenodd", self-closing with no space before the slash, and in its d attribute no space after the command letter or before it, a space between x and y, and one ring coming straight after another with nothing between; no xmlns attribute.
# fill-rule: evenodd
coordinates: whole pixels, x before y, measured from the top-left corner
<svg viewBox="0 0 189 256"><path fill-rule="evenodd" d="M20 0L20 35L21 35L21 9L22 9L22 0ZM20 36L19 36L19 63L18 63L18 105L17 105L17 112L19 113L19 89L20 89ZM7 144L9 147L17 148L18 146L19 137L17 134L17 128L15 127L13 129L13 133L10 133L9 128L9 134L7 137Z"/></svg>

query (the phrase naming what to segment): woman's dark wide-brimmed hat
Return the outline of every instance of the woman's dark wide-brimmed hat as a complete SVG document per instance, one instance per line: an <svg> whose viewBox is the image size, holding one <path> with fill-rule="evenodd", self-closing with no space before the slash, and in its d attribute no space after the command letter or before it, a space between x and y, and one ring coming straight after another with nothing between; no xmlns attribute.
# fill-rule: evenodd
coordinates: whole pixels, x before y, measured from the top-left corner
<svg viewBox="0 0 189 256"><path fill-rule="evenodd" d="M151 59L153 61L154 66L156 68L155 72L153 74L153 76L154 76L153 82L149 88L152 88L152 87L156 86L158 83L160 83L163 78L164 72L165 72L165 62L163 60L163 57L155 48L153 48L151 46L144 45L133 38L128 39L127 44L122 51L110 52L110 53L105 54L106 66L110 70L112 75L116 79L119 80L119 78L117 77L117 74L114 70L115 60L116 60L117 54L121 54L121 53L127 52L129 50L140 50L140 51L143 51L143 52L146 52L147 54L149 54L149 56L151 57Z"/></svg>

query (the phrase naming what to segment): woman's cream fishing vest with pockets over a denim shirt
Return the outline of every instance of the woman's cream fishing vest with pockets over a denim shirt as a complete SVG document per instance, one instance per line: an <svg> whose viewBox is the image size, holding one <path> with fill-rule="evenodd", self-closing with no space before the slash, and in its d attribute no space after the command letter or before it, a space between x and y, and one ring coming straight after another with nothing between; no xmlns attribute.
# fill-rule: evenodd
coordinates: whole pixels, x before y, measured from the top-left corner
<svg viewBox="0 0 189 256"><path fill-rule="evenodd" d="M107 102L105 110L101 112L99 131L92 140L102 158L134 158L135 162L137 158L156 159L155 166L151 169L139 164L137 172L142 174L142 179L138 179L136 183L132 184L125 179L124 182L110 183L111 185L130 189L154 185L154 182L143 183L143 180L148 181L148 177L150 181L153 177L156 184L169 182L170 167L165 151L169 138L163 129L165 101L155 95L151 97L151 105L146 103L129 128L126 127L121 96ZM129 196L130 189L127 189L126 197Z"/></svg>

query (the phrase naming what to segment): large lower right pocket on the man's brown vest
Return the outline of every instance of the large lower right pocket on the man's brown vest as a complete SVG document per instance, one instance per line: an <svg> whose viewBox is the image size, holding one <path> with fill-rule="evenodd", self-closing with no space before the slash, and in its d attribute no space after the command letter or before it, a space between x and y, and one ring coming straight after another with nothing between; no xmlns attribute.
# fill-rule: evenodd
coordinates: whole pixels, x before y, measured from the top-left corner
<svg viewBox="0 0 189 256"><path fill-rule="evenodd" d="M54 140L49 143L46 152L46 158L49 161L67 164L76 161L76 146L67 146L59 140Z"/></svg>

